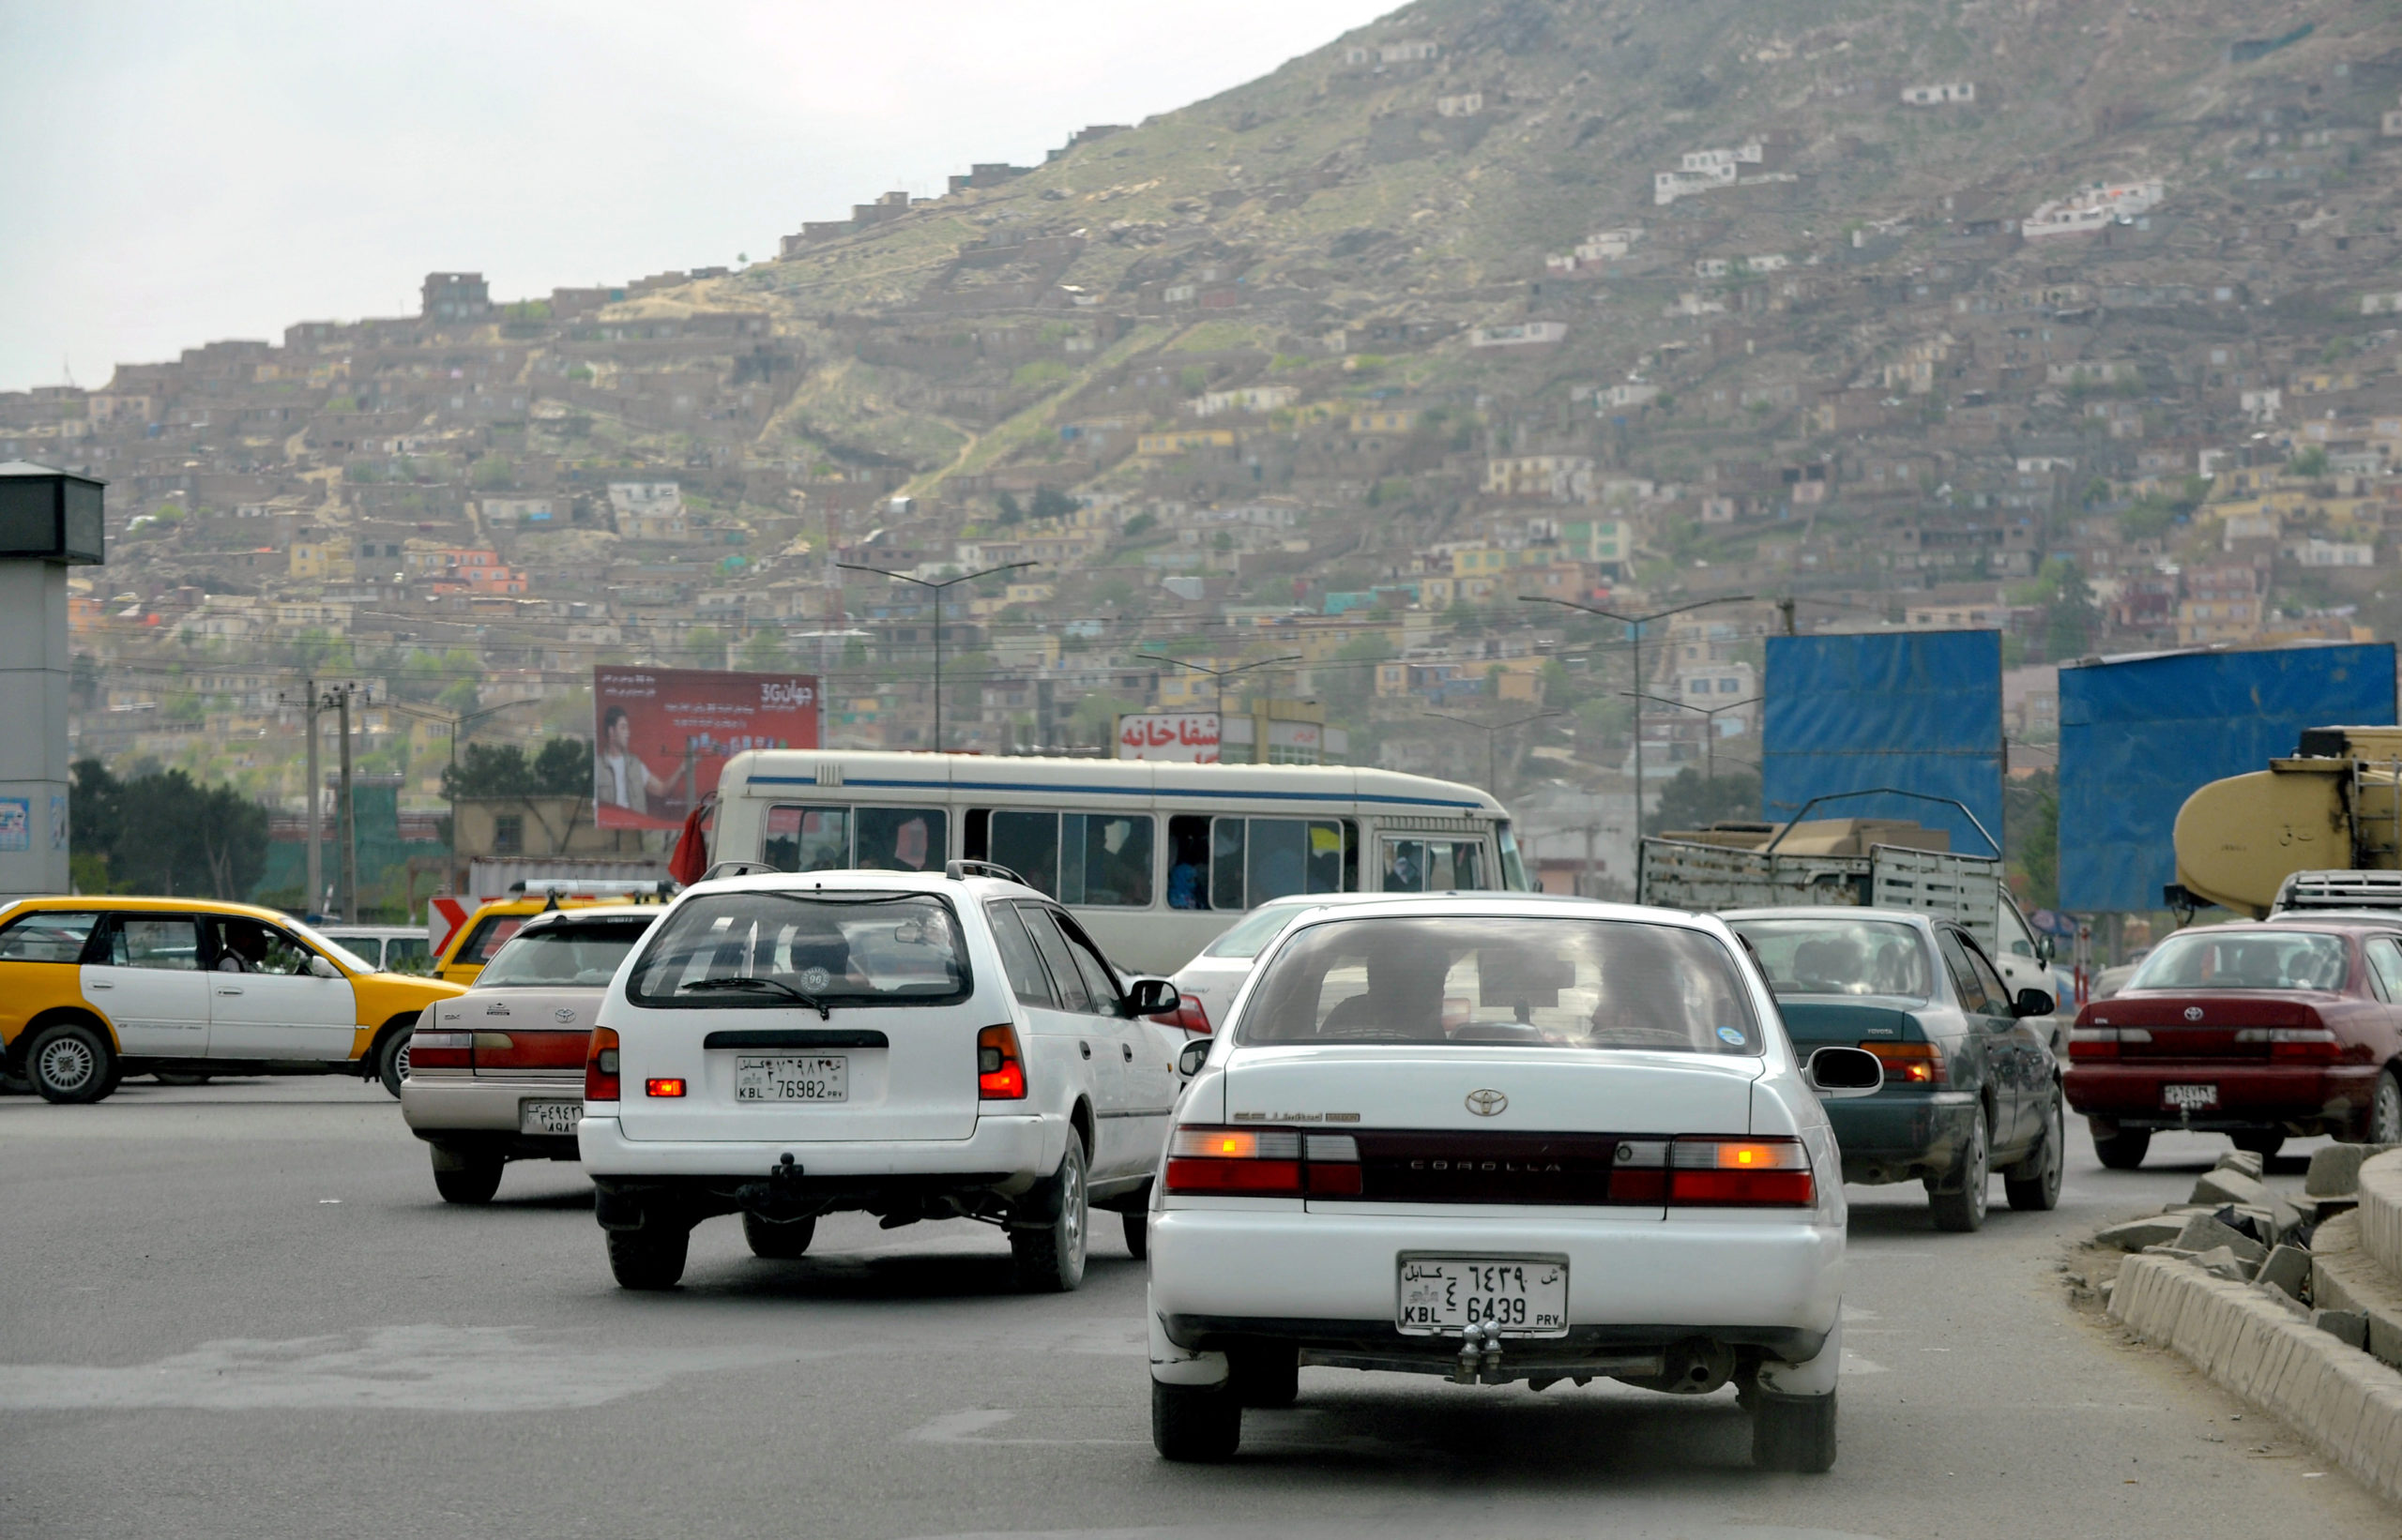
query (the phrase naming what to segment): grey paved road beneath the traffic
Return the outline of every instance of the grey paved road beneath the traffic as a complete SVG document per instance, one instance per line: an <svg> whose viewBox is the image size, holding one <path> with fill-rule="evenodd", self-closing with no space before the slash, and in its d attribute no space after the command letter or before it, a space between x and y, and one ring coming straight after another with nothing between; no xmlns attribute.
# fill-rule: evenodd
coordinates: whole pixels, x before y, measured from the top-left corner
<svg viewBox="0 0 2402 1540"><path fill-rule="evenodd" d="M2222 1146L1936 1235L1854 1189L1842 1461L1761 1475L1732 1391L1307 1369L1230 1468L1148 1439L1141 1266L1016 1297L1006 1247L733 1220L668 1297L610 1285L572 1165L447 1208L380 1091L127 1084L0 1100L0 1535L2395 1535L2174 1357L2066 1305L2063 1247ZM2279 1160L2299 1175L2299 1160ZM1998 1204L1998 1187L1996 1187Z"/></svg>

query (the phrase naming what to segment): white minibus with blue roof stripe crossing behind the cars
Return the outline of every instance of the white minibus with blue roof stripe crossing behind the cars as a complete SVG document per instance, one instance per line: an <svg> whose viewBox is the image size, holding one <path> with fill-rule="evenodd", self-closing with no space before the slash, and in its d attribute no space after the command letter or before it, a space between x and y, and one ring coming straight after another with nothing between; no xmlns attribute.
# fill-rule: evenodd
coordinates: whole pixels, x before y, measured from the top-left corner
<svg viewBox="0 0 2402 1540"><path fill-rule="evenodd" d="M990 860L1143 973L1285 894L1528 887L1487 793L1333 764L749 750L718 778L709 853L781 872Z"/></svg>

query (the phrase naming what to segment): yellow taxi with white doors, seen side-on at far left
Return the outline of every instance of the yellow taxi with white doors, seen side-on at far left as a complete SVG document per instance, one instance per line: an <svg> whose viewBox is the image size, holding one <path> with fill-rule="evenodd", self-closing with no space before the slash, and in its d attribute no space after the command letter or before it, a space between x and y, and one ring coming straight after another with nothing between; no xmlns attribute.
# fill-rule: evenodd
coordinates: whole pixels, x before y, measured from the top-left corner
<svg viewBox="0 0 2402 1540"><path fill-rule="evenodd" d="M125 1074L358 1074L399 1096L418 1011L461 992L250 903L0 906L0 1069L53 1103Z"/></svg>

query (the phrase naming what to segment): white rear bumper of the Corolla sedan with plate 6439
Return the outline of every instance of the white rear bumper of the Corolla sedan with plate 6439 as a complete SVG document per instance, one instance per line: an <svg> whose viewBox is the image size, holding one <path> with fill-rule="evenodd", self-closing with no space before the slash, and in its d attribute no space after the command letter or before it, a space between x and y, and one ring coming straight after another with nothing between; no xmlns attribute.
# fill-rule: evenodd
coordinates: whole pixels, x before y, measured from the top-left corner
<svg viewBox="0 0 2402 1540"><path fill-rule="evenodd" d="M1297 1343L1427 1343L1393 1331L1403 1252L1566 1257L1571 1341L1595 1345L1657 1348L1710 1336L1773 1343L1777 1357L1799 1362L1816 1355L1842 1302L1842 1228L1809 1216L1155 1208L1151 1309L1187 1350L1208 1350L1213 1336L1259 1333ZM1458 1353L1458 1338L1451 1350Z"/></svg>

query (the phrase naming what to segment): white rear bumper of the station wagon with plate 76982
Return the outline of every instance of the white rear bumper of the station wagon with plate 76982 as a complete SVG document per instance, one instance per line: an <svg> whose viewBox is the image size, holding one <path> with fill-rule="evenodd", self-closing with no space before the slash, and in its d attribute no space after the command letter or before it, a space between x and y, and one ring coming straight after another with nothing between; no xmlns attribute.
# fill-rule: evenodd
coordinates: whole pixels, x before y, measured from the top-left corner
<svg viewBox="0 0 2402 1540"><path fill-rule="evenodd" d="M805 1177L874 1180L975 1177L978 1187L1004 1196L1033 1187L1057 1170L1066 1153L1066 1117L1028 1112L978 1117L966 1139L829 1139L829 1141L685 1141L627 1139L615 1110L586 1108L576 1146L593 1177L627 1180L733 1180L749 1182L785 1158ZM999 1177L999 1180L994 1180Z"/></svg>

